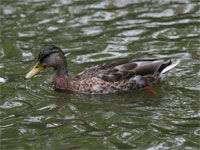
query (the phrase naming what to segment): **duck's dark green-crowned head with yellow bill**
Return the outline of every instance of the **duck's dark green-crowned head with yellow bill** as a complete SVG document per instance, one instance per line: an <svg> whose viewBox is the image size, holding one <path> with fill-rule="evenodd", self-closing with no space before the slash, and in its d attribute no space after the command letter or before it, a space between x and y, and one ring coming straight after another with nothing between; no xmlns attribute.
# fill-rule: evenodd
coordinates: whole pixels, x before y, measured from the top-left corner
<svg viewBox="0 0 200 150"><path fill-rule="evenodd" d="M56 75L59 77L67 76L67 64L64 53L57 46L46 46L40 51L37 63L34 65L33 69L26 74L25 79L30 79L48 67L54 68Z"/></svg>

